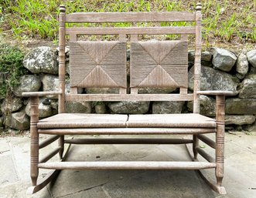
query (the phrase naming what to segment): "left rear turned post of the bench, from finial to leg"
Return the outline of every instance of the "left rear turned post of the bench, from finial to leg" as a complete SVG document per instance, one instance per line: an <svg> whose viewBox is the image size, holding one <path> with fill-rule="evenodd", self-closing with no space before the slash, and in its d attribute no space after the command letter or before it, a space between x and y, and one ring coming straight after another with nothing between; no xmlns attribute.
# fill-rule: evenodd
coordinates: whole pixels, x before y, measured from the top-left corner
<svg viewBox="0 0 256 198"><path fill-rule="evenodd" d="M65 112L65 6L60 5L60 26L59 26L59 89L61 94L59 95L59 113ZM64 136L60 136L59 139L60 158L63 157L64 149Z"/></svg>

